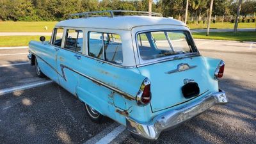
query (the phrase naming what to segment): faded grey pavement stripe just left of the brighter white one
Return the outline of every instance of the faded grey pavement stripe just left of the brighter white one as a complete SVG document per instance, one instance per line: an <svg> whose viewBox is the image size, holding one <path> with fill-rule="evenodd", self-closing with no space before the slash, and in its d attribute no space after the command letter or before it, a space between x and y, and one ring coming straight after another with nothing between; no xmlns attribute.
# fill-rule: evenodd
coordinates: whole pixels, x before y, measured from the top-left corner
<svg viewBox="0 0 256 144"><path fill-rule="evenodd" d="M115 129L118 125L119 124L114 122L113 124L106 127L106 129L101 131L99 134L97 134L96 136L93 136L93 138L91 138L90 140L85 141L85 143L83 143L83 144L97 143L97 141L101 140L104 136L109 134L109 132L111 132L113 129Z"/></svg>

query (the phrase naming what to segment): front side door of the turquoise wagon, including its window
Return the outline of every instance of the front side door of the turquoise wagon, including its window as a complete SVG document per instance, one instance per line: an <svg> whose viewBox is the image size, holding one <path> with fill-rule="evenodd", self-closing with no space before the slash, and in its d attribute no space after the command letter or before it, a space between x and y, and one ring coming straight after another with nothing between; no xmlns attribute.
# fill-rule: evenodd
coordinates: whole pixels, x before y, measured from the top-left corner
<svg viewBox="0 0 256 144"><path fill-rule="evenodd" d="M38 65L42 72L56 83L58 81L57 72L57 55L61 47L63 38L63 28L54 28L52 32L52 38L50 43L45 43L44 48L38 52Z"/></svg>

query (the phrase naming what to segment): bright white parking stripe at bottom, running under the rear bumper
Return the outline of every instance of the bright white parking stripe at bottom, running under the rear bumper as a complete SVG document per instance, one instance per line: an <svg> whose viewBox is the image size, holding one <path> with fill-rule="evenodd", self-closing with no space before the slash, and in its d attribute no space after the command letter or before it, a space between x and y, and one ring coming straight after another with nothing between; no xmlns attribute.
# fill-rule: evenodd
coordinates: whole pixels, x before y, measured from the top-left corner
<svg viewBox="0 0 256 144"><path fill-rule="evenodd" d="M100 139L96 144L110 143L124 130L125 130L124 125L119 125L113 131L111 131L109 134L107 134L102 139Z"/></svg>

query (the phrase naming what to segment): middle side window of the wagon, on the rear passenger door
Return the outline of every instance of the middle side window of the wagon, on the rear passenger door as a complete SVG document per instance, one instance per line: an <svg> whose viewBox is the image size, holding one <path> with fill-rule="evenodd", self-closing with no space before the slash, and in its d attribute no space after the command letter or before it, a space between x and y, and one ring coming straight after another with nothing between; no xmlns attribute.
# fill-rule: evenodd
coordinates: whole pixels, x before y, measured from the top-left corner
<svg viewBox="0 0 256 144"><path fill-rule="evenodd" d="M64 49L82 53L83 51L83 31L67 29Z"/></svg>

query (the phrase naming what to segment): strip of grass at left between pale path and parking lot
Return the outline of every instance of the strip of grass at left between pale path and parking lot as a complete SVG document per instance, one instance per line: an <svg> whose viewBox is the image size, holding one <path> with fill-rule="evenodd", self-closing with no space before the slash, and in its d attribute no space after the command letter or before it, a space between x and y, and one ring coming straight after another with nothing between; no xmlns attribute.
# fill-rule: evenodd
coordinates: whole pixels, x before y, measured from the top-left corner
<svg viewBox="0 0 256 144"><path fill-rule="evenodd" d="M27 46L30 40L39 40L40 36L0 36L0 47ZM45 36L50 40L51 36Z"/></svg>

